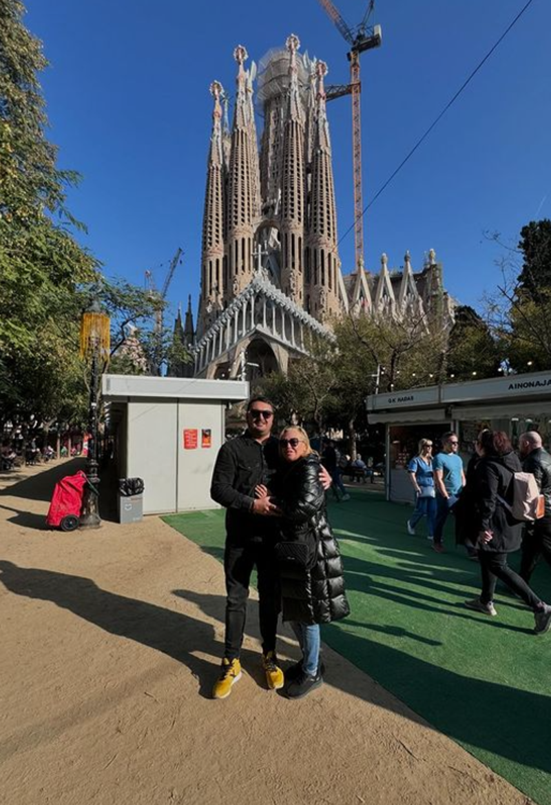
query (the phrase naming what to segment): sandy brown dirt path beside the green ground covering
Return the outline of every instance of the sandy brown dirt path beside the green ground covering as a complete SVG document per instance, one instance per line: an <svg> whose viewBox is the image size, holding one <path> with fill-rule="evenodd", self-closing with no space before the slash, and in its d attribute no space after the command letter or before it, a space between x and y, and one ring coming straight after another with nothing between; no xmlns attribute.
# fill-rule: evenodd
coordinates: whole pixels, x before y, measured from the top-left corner
<svg viewBox="0 0 551 805"><path fill-rule="evenodd" d="M39 530L73 468L0 478L2 802L529 803L329 648L312 696L267 691L255 601L243 679L210 700L222 566L158 518Z"/></svg>

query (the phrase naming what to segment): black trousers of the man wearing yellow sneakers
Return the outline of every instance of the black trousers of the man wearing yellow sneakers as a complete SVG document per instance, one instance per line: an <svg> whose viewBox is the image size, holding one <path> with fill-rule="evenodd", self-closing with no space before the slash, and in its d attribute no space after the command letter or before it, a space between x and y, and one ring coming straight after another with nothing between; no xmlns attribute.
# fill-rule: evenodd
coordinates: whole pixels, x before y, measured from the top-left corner
<svg viewBox="0 0 551 805"><path fill-rule="evenodd" d="M251 572L256 568L259 587L259 621L264 653L275 650L275 633L280 614L280 575L274 553L275 540L227 539L224 551L226 572L226 648L228 659L239 657L247 620L247 599Z"/></svg>

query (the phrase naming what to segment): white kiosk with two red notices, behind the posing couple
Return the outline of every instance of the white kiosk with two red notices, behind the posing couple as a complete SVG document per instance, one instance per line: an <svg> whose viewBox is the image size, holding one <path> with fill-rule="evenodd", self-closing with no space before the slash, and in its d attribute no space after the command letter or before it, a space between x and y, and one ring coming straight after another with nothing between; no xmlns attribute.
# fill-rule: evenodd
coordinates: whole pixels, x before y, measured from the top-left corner
<svg viewBox="0 0 551 805"><path fill-rule="evenodd" d="M104 374L108 427L119 477L145 482L144 514L214 509L210 477L225 434L225 411L248 382Z"/></svg>

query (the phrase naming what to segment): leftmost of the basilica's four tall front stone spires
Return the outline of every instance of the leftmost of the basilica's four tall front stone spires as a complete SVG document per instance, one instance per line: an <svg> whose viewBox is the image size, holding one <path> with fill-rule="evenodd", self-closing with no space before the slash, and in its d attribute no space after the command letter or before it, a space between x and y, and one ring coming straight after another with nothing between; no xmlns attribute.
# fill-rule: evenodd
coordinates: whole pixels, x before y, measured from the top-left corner
<svg viewBox="0 0 551 805"><path fill-rule="evenodd" d="M202 309L200 326L208 328L220 312L223 294L224 258L224 159L222 151L223 88L219 81L210 85L214 98L212 134L206 171L205 210L202 229Z"/></svg>

